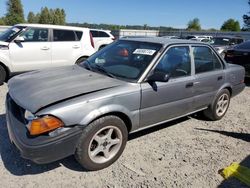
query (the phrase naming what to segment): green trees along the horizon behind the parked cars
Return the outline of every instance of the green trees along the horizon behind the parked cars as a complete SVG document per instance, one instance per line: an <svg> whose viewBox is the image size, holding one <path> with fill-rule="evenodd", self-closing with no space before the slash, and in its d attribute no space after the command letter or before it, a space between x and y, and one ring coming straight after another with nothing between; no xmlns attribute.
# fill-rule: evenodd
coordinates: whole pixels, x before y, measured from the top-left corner
<svg viewBox="0 0 250 188"><path fill-rule="evenodd" d="M119 30L119 29L138 29L138 30L159 30L159 31L175 31L179 30L173 27L151 27L147 24L144 25L115 25L115 24L90 24L90 23L66 23L66 13L64 9L49 9L47 7L41 8L38 13L29 12L27 20L24 18L23 5L21 0L8 0L7 13L4 17L0 18L0 25L14 25L17 23L40 23L40 24L55 24L55 25L71 25L89 28L102 28L107 30ZM248 1L250 5L250 0ZM220 30L221 31L250 31L250 12L243 15L244 27L240 28L240 23L232 18L226 20ZM194 18L187 24L186 30L200 31L202 30L200 20ZM211 28L210 31L216 31Z"/></svg>

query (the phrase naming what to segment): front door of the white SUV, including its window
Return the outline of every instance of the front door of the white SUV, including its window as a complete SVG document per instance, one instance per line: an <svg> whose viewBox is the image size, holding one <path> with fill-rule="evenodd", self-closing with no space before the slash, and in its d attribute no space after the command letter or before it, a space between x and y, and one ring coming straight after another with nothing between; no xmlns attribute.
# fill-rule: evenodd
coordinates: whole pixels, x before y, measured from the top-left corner
<svg viewBox="0 0 250 188"><path fill-rule="evenodd" d="M11 42L10 59L15 72L51 66L51 42L46 28L27 28L20 37L23 42Z"/></svg>

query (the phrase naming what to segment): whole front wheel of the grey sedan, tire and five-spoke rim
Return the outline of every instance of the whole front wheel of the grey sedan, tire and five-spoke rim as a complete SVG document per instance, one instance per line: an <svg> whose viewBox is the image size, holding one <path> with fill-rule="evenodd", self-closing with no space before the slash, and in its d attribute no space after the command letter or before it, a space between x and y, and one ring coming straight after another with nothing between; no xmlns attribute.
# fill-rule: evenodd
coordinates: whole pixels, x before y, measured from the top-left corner
<svg viewBox="0 0 250 188"><path fill-rule="evenodd" d="M87 170L103 169L119 158L127 138L127 127L119 117L102 117L83 130L75 157Z"/></svg>

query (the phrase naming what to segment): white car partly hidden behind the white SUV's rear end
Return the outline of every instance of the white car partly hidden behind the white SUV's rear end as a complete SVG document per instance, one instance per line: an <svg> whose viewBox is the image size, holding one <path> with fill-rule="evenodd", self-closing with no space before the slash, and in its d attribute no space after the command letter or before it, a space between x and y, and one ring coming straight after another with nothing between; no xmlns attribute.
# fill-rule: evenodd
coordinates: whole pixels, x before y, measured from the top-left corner
<svg viewBox="0 0 250 188"><path fill-rule="evenodd" d="M100 50L115 40L115 37L109 30L90 29L90 32L92 34L96 50Z"/></svg>

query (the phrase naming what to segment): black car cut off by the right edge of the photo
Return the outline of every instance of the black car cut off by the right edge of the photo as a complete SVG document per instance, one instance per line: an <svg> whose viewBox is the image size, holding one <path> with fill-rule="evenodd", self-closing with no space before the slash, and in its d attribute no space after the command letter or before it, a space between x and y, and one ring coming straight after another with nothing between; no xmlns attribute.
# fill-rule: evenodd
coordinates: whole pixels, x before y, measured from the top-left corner
<svg viewBox="0 0 250 188"><path fill-rule="evenodd" d="M228 63L238 64L245 67L246 77L250 77L250 41L243 42L225 53Z"/></svg>

